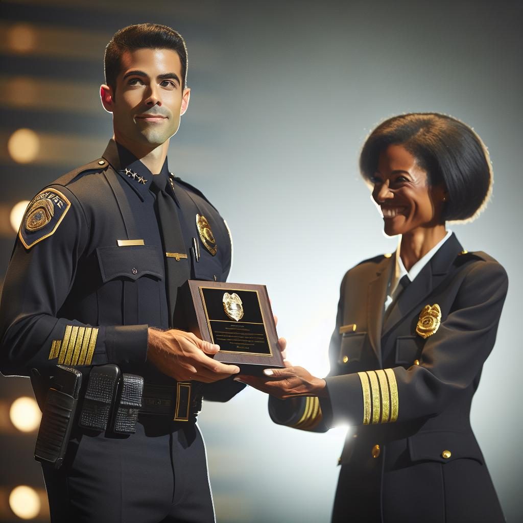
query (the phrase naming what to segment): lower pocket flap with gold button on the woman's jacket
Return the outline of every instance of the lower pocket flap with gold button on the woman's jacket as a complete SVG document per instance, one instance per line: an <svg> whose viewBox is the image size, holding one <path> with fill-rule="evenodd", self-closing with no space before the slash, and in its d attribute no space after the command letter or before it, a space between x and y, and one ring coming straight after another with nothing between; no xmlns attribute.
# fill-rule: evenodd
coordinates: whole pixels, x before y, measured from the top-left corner
<svg viewBox="0 0 523 523"><path fill-rule="evenodd" d="M433 431L418 433L408 438L412 461L438 461L448 463L468 458L483 464L483 454L471 433Z"/></svg>

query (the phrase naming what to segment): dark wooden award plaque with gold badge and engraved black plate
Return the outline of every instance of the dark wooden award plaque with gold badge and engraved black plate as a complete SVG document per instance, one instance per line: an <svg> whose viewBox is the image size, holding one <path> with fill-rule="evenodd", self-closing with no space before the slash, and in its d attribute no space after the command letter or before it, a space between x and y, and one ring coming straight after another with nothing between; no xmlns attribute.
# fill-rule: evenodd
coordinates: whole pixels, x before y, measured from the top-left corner
<svg viewBox="0 0 523 523"><path fill-rule="evenodd" d="M220 346L214 359L243 374L284 367L265 285L188 280L180 298L189 331Z"/></svg>

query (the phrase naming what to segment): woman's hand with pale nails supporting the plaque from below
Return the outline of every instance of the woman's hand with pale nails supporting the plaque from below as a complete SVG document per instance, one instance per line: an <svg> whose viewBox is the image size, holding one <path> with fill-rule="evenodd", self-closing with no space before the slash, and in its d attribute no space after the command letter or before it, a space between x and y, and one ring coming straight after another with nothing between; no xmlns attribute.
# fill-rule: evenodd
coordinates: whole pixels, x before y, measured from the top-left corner
<svg viewBox="0 0 523 523"><path fill-rule="evenodd" d="M292 367L290 363L286 363L285 369L265 369L264 374L264 377L241 374L234 379L280 400L297 396L327 396L325 380L312 376L303 367Z"/></svg>

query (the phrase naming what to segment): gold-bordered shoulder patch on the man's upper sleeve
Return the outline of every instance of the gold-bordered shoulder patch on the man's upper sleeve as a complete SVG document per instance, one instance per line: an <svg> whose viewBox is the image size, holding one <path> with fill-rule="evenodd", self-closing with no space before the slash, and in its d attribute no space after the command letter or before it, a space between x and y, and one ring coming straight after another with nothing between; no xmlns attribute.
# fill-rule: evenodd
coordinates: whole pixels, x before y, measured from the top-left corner
<svg viewBox="0 0 523 523"><path fill-rule="evenodd" d="M27 206L18 236L26 249L53 235L71 202L53 188L40 191Z"/></svg>

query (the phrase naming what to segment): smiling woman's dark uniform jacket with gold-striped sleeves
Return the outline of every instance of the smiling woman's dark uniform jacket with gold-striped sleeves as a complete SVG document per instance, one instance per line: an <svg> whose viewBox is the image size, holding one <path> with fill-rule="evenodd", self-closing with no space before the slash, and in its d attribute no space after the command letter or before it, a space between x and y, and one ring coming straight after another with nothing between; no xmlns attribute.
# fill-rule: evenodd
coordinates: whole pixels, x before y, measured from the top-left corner
<svg viewBox="0 0 523 523"><path fill-rule="evenodd" d="M464 252L452 234L383 324L394 267L386 255L346 273L328 399L271 399L271 417L314 431L354 426L339 460L334 521L503 521L469 415L506 272L485 253Z"/></svg>

